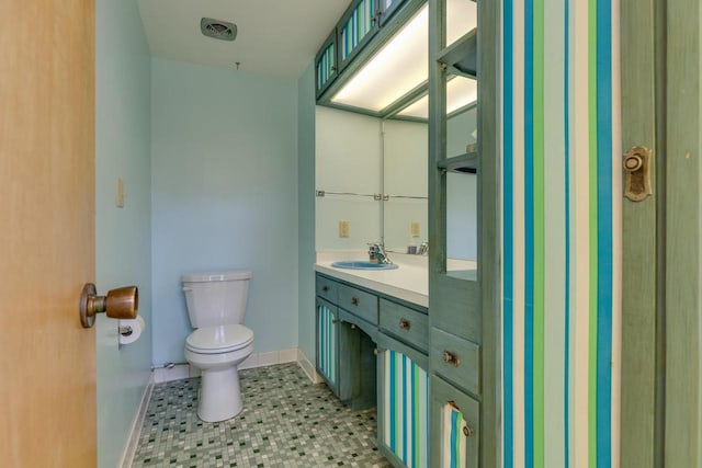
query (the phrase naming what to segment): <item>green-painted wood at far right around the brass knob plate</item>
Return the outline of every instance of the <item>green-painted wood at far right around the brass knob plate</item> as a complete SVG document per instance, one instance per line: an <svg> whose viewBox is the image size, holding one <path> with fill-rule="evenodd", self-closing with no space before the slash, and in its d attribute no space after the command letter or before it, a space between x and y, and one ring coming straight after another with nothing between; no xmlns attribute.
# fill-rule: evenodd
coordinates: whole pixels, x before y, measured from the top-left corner
<svg viewBox="0 0 702 468"><path fill-rule="evenodd" d="M702 464L701 9L622 2L623 147L655 161L623 210L622 467Z"/></svg>

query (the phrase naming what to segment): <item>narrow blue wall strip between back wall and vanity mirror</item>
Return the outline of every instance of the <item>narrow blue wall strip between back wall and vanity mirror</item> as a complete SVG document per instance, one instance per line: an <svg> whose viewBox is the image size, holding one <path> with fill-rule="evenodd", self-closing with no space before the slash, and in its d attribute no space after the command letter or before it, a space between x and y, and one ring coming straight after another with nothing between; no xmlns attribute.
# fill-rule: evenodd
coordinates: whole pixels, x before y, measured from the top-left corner
<svg viewBox="0 0 702 468"><path fill-rule="evenodd" d="M315 362L315 67L297 84L299 212L299 349Z"/></svg>

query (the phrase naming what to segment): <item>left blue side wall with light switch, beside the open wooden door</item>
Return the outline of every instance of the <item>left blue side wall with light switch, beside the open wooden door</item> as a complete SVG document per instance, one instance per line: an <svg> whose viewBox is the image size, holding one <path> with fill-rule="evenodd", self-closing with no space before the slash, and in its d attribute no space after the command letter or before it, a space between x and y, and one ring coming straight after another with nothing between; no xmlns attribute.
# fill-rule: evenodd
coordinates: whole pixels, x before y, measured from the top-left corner
<svg viewBox="0 0 702 468"><path fill-rule="evenodd" d="M136 284L151 321L150 56L134 1L98 0L95 13L95 263L101 294ZM124 181L124 208L114 205ZM151 333L121 350L116 320L99 317L98 459L123 455L151 367Z"/></svg>

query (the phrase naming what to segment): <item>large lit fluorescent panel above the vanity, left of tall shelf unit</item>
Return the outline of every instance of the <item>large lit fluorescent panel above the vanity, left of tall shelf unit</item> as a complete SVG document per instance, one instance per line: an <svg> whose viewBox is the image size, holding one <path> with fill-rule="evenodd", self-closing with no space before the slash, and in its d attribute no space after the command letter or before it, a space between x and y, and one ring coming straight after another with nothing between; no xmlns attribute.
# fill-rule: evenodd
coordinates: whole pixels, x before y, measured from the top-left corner
<svg viewBox="0 0 702 468"><path fill-rule="evenodd" d="M381 112L429 76L429 8L424 4L341 90L335 104Z"/></svg>

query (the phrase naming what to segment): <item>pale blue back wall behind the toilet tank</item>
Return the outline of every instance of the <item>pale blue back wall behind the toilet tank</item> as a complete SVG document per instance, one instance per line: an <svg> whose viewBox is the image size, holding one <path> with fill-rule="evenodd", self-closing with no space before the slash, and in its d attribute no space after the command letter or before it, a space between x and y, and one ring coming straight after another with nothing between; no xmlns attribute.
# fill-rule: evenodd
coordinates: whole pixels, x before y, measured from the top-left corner
<svg viewBox="0 0 702 468"><path fill-rule="evenodd" d="M254 352L297 346L297 82L151 61L154 363L184 362L186 272L253 272Z"/></svg>

